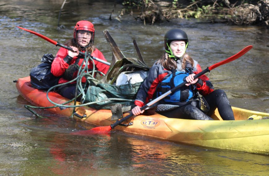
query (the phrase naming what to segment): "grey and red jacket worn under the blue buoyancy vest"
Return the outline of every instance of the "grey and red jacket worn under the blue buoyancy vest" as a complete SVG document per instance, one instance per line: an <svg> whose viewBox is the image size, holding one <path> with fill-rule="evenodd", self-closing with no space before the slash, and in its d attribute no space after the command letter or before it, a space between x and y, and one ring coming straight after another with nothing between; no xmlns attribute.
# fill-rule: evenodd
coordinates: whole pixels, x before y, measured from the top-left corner
<svg viewBox="0 0 269 176"><path fill-rule="evenodd" d="M197 61L194 61L194 67L192 69L195 74L202 71ZM177 71L185 72L185 70L181 68L180 60L177 60ZM148 72L147 78L138 90L135 105L140 107L144 106L145 103L153 98L158 84L162 82L162 80L168 78L171 74L172 71L164 69L163 65L160 63L154 63ZM214 91L214 87L206 75L200 76L195 86L201 95L207 95Z"/></svg>

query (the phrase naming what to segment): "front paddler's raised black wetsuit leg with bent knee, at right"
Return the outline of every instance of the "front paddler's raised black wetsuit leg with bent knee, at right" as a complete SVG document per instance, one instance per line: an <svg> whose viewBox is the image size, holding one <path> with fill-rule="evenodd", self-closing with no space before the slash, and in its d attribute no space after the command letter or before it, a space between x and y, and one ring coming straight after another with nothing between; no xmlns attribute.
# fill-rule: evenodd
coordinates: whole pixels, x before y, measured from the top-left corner
<svg viewBox="0 0 269 176"><path fill-rule="evenodd" d="M204 98L210 107L207 115L211 116L215 109L218 108L220 117L223 120L234 120L233 110L224 90L214 90L210 94L204 96Z"/></svg>

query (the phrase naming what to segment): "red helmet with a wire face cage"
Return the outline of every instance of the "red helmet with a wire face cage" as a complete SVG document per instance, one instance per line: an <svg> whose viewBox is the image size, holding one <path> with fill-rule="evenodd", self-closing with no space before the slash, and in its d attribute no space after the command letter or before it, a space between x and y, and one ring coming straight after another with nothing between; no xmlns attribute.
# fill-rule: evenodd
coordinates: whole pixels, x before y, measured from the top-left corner
<svg viewBox="0 0 269 176"><path fill-rule="evenodd" d="M86 45L86 46L79 45L79 43L78 43L78 41L80 40L79 36L78 36L79 32L84 32L86 37L88 37L89 34L92 35L91 40L88 43L88 45ZM95 34L95 29L93 27L93 24L91 22L87 21L87 20L82 20L82 21L77 22L75 27L74 27L74 41L82 49L93 45L93 43L94 43L94 34Z"/></svg>

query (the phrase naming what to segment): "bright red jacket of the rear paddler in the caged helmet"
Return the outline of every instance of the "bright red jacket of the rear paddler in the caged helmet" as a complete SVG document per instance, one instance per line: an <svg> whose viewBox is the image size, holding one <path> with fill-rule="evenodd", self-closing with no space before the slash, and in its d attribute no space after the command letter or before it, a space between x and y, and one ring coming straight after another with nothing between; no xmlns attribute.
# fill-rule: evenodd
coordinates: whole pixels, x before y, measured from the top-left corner
<svg viewBox="0 0 269 176"><path fill-rule="evenodd" d="M74 57L71 60L71 62L69 64L67 64L66 61L63 60L67 55L68 55L68 50L65 48L60 48L59 51L57 52L56 57L51 64L51 73L54 76L57 76L57 77L62 76L64 74L64 72L66 71L66 69L69 67L69 65L74 64L76 59L78 58L78 57ZM102 52L100 52L97 48L95 48L95 50L92 52L91 56L97 57L99 59L106 61ZM81 65L82 61L83 61L83 59L80 59L78 65ZM109 69L109 65L103 64L103 63L95 61L95 60L93 60L93 61L95 64L95 68L98 71L101 71L105 74L107 73L107 71ZM85 65L85 63L84 63L84 65ZM92 64L91 60L89 60L88 69L93 69L93 64ZM68 80L66 80L64 78L60 78L58 84L62 84L65 82L68 82ZM86 78L83 77L82 82L86 82Z"/></svg>

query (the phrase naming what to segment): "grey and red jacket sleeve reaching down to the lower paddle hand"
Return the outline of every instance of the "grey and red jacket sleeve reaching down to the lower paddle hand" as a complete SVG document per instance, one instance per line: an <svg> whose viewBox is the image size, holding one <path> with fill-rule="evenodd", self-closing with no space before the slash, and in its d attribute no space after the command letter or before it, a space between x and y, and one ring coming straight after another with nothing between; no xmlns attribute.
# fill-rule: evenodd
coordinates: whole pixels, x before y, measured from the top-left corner
<svg viewBox="0 0 269 176"><path fill-rule="evenodd" d="M135 105L142 107L153 98L153 94L155 93L159 82L161 82L168 74L167 72L160 70L164 70L160 64L154 64L152 68L150 68L147 78L138 90Z"/></svg>

